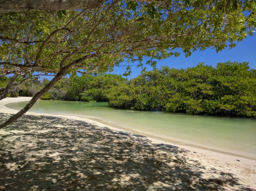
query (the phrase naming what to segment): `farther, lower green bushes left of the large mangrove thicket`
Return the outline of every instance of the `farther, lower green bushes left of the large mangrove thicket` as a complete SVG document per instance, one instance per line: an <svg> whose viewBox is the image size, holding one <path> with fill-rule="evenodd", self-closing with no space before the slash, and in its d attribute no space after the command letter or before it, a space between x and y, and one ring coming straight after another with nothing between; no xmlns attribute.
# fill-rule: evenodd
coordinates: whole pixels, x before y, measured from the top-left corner
<svg viewBox="0 0 256 191"><path fill-rule="evenodd" d="M40 97L43 100L81 100L81 101L108 101L109 94L116 86L127 80L115 74L72 76L62 78L52 89ZM49 80L24 83L19 86L17 92L22 94L37 93L38 90L47 86Z"/></svg>

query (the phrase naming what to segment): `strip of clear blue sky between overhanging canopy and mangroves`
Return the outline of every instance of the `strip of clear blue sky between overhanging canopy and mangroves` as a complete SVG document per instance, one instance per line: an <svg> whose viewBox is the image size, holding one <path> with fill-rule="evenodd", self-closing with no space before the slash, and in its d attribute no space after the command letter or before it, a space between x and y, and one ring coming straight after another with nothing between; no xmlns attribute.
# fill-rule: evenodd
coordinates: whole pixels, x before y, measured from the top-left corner
<svg viewBox="0 0 256 191"><path fill-rule="evenodd" d="M207 49L205 51L195 51L190 57L185 57L184 54L180 54L179 57L169 57L165 60L157 61L157 68L161 66L169 66L169 68L187 68L196 66L200 62L204 62L207 65L215 67L219 62L249 62L250 68L256 69L256 34L248 36L243 41L237 43L237 46L232 49L224 49L221 52L216 53L215 50ZM150 71L151 66L146 66L146 70ZM128 79L137 77L140 75L141 68L132 67L131 75ZM123 74L125 67L115 67L111 74Z"/></svg>

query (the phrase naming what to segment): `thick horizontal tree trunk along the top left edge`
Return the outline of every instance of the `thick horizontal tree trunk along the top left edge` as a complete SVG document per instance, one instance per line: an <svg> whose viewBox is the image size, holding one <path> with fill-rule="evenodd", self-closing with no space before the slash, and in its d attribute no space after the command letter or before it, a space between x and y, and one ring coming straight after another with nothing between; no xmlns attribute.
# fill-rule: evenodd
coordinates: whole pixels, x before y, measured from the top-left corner
<svg viewBox="0 0 256 191"><path fill-rule="evenodd" d="M31 10L70 10L99 7L103 0L0 0L0 13Z"/></svg>

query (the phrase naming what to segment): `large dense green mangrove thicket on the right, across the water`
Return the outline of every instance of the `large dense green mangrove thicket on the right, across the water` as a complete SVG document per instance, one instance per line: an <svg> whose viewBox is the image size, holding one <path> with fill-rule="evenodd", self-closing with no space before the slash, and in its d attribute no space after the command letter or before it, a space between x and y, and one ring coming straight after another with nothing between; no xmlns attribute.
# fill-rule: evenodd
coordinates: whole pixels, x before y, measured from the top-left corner
<svg viewBox="0 0 256 191"><path fill-rule="evenodd" d="M118 86L110 106L189 114L256 117L256 72L248 63L163 67Z"/></svg>

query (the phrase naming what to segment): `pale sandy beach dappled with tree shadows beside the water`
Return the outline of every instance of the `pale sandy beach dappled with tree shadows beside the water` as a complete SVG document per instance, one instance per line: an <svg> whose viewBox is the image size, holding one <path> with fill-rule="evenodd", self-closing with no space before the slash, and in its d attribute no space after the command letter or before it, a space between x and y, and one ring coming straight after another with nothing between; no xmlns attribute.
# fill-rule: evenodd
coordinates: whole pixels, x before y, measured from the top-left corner
<svg viewBox="0 0 256 191"><path fill-rule="evenodd" d="M0 101L0 122L17 111ZM81 117L28 112L0 130L0 191L256 191L256 161Z"/></svg>

